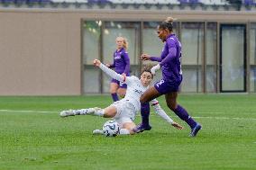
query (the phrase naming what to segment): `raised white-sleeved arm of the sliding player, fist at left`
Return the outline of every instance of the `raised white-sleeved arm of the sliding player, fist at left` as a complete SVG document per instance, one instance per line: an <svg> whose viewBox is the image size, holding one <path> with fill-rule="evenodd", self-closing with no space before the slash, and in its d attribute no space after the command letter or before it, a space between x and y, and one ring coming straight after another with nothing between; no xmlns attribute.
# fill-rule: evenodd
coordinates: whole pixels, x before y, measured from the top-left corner
<svg viewBox="0 0 256 170"><path fill-rule="evenodd" d="M103 72L105 72L106 75L111 76L112 78L118 80L118 81L122 81L123 83L128 83L129 82L129 78L120 74L117 74L116 72L114 72L114 70L106 67L104 64L102 64L100 62L100 60L95 59L94 60L94 65L96 67L99 67Z"/></svg>

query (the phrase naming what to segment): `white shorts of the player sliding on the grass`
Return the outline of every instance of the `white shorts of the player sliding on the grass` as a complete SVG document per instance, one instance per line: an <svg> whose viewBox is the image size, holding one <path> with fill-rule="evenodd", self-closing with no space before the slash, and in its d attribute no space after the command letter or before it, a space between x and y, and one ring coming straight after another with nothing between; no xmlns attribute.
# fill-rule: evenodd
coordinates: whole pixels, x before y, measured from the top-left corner
<svg viewBox="0 0 256 170"><path fill-rule="evenodd" d="M114 120L123 127L123 123L133 122L135 119L135 107L129 101L121 100L116 101L111 106L114 106L117 110Z"/></svg>

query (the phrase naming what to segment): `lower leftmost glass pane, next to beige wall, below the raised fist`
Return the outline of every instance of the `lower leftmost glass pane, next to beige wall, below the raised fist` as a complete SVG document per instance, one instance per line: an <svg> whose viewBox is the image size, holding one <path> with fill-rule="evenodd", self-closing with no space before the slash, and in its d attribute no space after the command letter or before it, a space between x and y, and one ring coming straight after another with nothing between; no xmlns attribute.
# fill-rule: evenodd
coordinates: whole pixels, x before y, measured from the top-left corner
<svg viewBox="0 0 256 170"><path fill-rule="evenodd" d="M83 77L83 94L100 93L100 71L95 67L85 67Z"/></svg>

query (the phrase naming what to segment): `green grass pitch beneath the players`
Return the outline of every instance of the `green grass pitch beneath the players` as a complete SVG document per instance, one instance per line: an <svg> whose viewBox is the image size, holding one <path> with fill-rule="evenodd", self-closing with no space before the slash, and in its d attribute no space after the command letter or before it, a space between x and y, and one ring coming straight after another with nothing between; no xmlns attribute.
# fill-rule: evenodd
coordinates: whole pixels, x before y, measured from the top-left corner
<svg viewBox="0 0 256 170"><path fill-rule="evenodd" d="M163 98L185 130L151 113L151 131L105 138L91 133L103 118L62 119L59 111L105 107L109 96L0 97L0 169L256 169L256 95L183 94L178 102L203 125L197 138Z"/></svg>

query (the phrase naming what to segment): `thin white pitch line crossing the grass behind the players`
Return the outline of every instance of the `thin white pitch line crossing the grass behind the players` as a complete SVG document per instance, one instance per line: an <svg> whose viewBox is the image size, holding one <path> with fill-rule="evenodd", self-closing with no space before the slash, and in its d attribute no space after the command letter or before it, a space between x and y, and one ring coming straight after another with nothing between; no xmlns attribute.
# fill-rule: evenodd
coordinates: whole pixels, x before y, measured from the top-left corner
<svg viewBox="0 0 256 170"><path fill-rule="evenodd" d="M0 110L0 112L38 112L38 113L59 113L59 111L16 111L16 110ZM211 112L213 113L213 112ZM156 114L151 112L151 116L155 116ZM141 116L137 114L137 116ZM170 117L178 117L176 115L171 115ZM256 118L229 118L229 117L208 117L208 116L192 116L196 119L216 119L216 120L251 120L256 121Z"/></svg>

